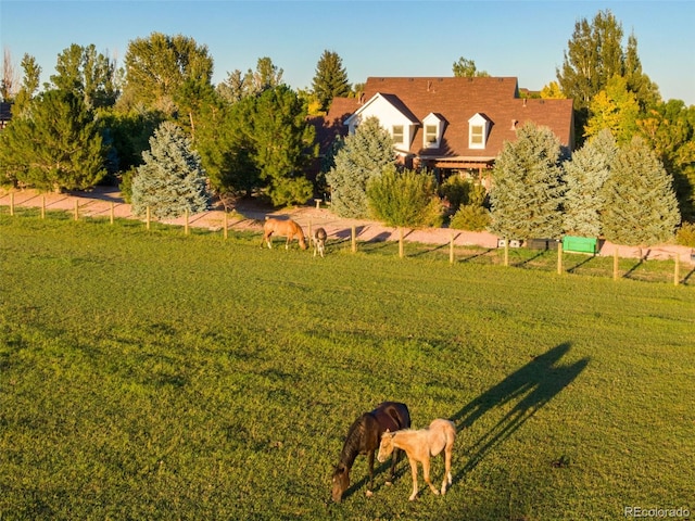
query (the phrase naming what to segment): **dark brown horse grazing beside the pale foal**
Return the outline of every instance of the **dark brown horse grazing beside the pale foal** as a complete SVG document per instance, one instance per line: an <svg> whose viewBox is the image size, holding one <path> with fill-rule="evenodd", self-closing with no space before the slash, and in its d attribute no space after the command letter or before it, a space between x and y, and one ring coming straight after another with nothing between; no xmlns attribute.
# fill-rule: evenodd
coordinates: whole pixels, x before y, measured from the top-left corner
<svg viewBox="0 0 695 521"><path fill-rule="evenodd" d="M333 501L340 503L343 493L350 487L350 469L357 455L367 455L369 462L369 486L367 496L371 496L374 488L374 453L379 447L381 434L389 430L407 429L410 427L410 412L405 404L384 402L371 412L365 412L357 418L348 431L345 444L340 453L340 461L333 472ZM394 452L391 460L391 473L387 484L393 481L395 463L399 453Z"/></svg>

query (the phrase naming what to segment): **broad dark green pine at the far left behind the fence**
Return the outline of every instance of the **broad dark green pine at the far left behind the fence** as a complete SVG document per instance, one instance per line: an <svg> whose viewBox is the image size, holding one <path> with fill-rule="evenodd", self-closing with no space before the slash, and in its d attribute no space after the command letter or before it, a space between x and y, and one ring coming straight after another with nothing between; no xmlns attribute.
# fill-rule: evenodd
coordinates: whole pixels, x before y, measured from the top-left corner
<svg viewBox="0 0 695 521"><path fill-rule="evenodd" d="M83 190L106 174L102 125L73 92L49 90L0 132L7 181L41 190Z"/></svg>

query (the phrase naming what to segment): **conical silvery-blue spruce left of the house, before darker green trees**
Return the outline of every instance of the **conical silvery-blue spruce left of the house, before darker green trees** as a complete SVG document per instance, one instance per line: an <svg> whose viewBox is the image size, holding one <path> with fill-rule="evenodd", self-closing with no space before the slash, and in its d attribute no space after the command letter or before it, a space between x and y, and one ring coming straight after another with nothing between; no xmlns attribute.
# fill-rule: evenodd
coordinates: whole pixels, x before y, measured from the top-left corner
<svg viewBox="0 0 695 521"><path fill-rule="evenodd" d="M172 122L164 122L150 138L144 163L132 179L132 213L143 215L148 207L159 218L179 217L188 209L207 209L210 194L205 170L191 141Z"/></svg>

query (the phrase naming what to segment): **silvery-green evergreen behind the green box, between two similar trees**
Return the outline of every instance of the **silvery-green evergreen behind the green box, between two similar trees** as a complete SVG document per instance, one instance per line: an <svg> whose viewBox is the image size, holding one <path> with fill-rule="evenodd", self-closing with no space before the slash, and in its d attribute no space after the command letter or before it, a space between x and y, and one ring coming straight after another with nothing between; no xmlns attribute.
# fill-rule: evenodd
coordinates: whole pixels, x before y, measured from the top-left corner
<svg viewBox="0 0 695 521"><path fill-rule="evenodd" d="M605 206L602 189L618 147L610 130L603 130L563 164L565 169L564 231L581 237L602 234Z"/></svg>

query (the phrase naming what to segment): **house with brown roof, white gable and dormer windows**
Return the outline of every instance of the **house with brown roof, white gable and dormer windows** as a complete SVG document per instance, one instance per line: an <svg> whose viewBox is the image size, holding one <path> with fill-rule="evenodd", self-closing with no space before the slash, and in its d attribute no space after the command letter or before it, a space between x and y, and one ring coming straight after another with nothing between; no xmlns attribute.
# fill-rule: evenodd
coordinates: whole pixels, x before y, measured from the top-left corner
<svg viewBox="0 0 695 521"><path fill-rule="evenodd" d="M574 141L572 100L520 98L514 77L370 77L357 99L333 99L324 128L344 136L370 116L406 166L467 171L482 182L528 122L549 127L570 150Z"/></svg>

